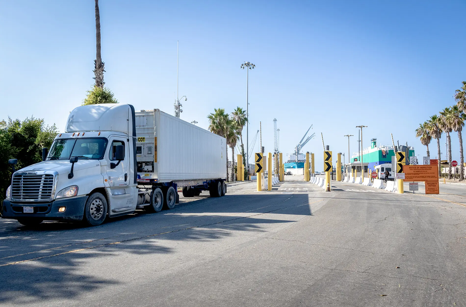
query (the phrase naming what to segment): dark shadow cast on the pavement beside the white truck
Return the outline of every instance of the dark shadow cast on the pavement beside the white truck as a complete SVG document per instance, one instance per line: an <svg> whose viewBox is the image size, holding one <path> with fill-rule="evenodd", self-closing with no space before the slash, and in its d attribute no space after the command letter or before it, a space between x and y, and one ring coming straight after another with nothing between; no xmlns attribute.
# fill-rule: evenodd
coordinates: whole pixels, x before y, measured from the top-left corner
<svg viewBox="0 0 466 307"><path fill-rule="evenodd" d="M79 268L89 261L95 266L109 255L170 254L174 251L165 242L173 240L221 240L232 232L265 232L264 224L294 221L265 214L311 215L308 202L308 194L200 197L172 210L138 211L98 227L48 222L28 228L14 221L7 229L11 220L0 220L0 303L70 299L116 285L120 281L80 274ZM24 260L28 261L21 263ZM16 261L20 263L10 264Z"/></svg>

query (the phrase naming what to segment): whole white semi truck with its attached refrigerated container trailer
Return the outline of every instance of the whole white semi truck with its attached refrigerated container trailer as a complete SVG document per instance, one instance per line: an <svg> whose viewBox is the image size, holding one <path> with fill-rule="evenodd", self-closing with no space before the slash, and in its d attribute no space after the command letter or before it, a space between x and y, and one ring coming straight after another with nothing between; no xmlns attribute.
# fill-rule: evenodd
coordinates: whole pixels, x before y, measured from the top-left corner
<svg viewBox="0 0 466 307"><path fill-rule="evenodd" d="M159 212L208 190L226 194L226 140L158 109L127 104L76 107L43 161L12 176L2 218L23 225L84 221L136 209ZM10 160L14 164L15 160Z"/></svg>

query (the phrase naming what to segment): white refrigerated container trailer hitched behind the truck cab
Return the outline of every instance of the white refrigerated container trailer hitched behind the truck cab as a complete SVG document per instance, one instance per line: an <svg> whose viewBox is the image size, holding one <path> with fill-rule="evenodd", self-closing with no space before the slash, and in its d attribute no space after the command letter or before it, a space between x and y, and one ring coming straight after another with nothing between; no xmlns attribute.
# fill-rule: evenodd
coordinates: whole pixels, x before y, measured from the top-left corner
<svg viewBox="0 0 466 307"><path fill-rule="evenodd" d="M159 109L136 112L137 182L176 184L183 196L226 193L226 140Z"/></svg>

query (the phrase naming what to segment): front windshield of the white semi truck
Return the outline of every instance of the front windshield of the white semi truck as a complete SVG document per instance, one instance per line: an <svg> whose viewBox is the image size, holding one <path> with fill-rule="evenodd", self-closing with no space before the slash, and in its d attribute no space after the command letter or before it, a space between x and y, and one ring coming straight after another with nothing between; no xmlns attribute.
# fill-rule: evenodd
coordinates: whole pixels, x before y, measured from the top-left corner
<svg viewBox="0 0 466 307"><path fill-rule="evenodd" d="M105 138L82 138L55 140L47 156L47 160L102 159L107 146Z"/></svg>

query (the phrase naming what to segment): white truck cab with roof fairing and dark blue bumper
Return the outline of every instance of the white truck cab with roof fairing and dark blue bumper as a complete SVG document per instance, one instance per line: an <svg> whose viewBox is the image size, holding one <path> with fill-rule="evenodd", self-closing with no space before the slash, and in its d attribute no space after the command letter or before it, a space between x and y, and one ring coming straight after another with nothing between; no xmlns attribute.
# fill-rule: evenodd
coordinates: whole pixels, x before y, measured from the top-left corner
<svg viewBox="0 0 466 307"><path fill-rule="evenodd" d="M83 220L134 212L138 202L134 107L76 107L40 163L12 176L2 217L24 225Z"/></svg>

